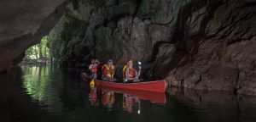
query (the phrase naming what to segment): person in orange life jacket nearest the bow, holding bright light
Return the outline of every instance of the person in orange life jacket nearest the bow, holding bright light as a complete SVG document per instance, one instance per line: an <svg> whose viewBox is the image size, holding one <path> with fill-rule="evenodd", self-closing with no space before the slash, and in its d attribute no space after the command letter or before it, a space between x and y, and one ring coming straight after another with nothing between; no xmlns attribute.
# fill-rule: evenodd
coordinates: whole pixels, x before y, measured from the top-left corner
<svg viewBox="0 0 256 122"><path fill-rule="evenodd" d="M139 71L137 72L137 70L133 68L132 60L129 60L129 62L127 63L127 65L125 65L123 69L124 82L138 82L139 76L141 75L141 69L142 67L139 66Z"/></svg>

